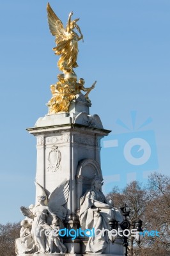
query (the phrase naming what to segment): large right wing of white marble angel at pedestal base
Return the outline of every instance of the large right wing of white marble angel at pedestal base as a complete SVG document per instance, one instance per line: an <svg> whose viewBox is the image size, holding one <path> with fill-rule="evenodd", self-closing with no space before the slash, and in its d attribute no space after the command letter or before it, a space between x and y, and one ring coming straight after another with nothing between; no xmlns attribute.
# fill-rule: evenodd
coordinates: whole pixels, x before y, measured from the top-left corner
<svg viewBox="0 0 170 256"><path fill-rule="evenodd" d="M66 217L66 209L63 205L66 204L69 195L69 180L62 182L58 188L54 189L49 195L49 208L52 212L64 220Z"/></svg>

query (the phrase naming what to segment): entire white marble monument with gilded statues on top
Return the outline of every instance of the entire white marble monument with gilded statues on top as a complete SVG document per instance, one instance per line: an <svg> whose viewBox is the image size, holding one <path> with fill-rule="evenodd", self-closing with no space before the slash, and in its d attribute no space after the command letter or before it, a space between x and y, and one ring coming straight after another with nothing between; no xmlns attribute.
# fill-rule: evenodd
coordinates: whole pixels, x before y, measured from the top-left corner
<svg viewBox="0 0 170 256"><path fill-rule="evenodd" d="M56 38L53 50L59 56L62 73L50 86L47 115L27 129L36 137L36 200L20 207L24 220L15 241L18 256L123 255L120 238L112 244L107 232L98 236L91 233L109 230L109 220L122 221L123 216L102 193L100 140L111 131L104 129L98 115L89 113L89 92L96 81L86 88L84 79L77 80L73 70L78 67L78 42L83 35L79 19L72 20L72 15L68 15L64 28L47 4L50 33Z"/></svg>

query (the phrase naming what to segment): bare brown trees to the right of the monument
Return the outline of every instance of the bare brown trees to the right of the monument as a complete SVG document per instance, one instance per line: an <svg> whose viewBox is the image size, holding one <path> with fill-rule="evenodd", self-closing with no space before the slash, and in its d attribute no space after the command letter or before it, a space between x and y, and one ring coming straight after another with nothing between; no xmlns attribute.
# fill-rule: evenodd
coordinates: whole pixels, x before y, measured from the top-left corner
<svg viewBox="0 0 170 256"><path fill-rule="evenodd" d="M143 230L157 230L158 236L144 236L141 248L134 237L128 239L129 256L167 256L170 255L170 178L160 173L153 173L147 186L137 181L124 189L114 187L107 195L115 207L127 204L130 207L130 223L140 218ZM133 228L133 227L132 227Z"/></svg>

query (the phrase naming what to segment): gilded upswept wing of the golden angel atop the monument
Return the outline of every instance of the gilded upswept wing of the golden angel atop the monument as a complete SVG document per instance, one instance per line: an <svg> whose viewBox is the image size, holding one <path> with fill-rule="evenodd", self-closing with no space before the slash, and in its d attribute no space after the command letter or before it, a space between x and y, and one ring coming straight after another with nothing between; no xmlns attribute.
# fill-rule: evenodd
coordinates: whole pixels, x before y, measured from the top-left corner
<svg viewBox="0 0 170 256"><path fill-rule="evenodd" d="M65 28L63 27L63 23L58 18L56 13L54 13L49 3L47 4L47 17L50 33L52 33L53 36L56 36L56 44L62 40L66 40L67 34Z"/></svg>

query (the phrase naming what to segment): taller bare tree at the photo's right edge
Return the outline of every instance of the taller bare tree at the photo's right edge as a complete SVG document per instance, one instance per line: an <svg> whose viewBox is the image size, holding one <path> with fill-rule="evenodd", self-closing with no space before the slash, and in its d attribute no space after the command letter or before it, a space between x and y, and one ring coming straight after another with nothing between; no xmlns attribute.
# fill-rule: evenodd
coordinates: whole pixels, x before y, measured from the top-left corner
<svg viewBox="0 0 170 256"><path fill-rule="evenodd" d="M146 230L158 230L159 234L144 239L144 247L154 255L170 255L170 178L161 173L149 177L150 204L144 212Z"/></svg>

